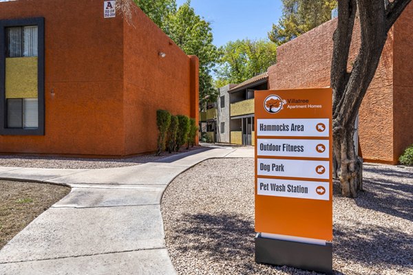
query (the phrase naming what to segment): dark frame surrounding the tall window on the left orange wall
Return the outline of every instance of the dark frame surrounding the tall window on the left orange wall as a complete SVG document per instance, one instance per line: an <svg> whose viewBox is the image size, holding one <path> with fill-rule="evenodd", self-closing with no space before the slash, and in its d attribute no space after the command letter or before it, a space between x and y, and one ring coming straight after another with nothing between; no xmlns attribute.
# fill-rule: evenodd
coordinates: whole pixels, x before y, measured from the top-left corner
<svg viewBox="0 0 413 275"><path fill-rule="evenodd" d="M37 129L7 128L6 100L6 28L37 25L37 98L38 120ZM0 20L0 135L45 135L45 19L44 17L28 19ZM3 111L1 111L3 109Z"/></svg>

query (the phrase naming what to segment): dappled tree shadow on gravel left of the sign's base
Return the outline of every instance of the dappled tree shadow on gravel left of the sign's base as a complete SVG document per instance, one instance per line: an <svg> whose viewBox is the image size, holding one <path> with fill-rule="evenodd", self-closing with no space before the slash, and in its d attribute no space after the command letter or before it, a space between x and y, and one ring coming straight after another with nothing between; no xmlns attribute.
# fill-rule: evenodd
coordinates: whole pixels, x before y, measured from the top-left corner
<svg viewBox="0 0 413 275"><path fill-rule="evenodd" d="M175 239L184 241L178 250L182 253L191 250L207 254L213 261L236 263L235 274L264 274L262 267L286 272L286 274L318 274L293 267L264 265L255 263L255 230L253 223L236 214L187 214L184 217L187 226L177 229ZM200 256L202 259L202 256ZM249 259L249 261L240 261ZM266 270L268 272L268 270ZM271 273L272 274L272 273ZM343 275L334 271L336 275Z"/></svg>

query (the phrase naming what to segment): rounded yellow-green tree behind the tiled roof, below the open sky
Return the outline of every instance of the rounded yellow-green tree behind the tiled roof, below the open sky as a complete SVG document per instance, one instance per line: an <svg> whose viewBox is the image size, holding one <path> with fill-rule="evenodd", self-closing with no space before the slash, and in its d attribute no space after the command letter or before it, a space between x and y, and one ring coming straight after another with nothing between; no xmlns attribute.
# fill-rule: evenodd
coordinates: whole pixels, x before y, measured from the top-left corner
<svg viewBox="0 0 413 275"><path fill-rule="evenodd" d="M220 48L222 57L216 70L215 87L245 80L266 72L277 62L277 47L271 41L243 39Z"/></svg>

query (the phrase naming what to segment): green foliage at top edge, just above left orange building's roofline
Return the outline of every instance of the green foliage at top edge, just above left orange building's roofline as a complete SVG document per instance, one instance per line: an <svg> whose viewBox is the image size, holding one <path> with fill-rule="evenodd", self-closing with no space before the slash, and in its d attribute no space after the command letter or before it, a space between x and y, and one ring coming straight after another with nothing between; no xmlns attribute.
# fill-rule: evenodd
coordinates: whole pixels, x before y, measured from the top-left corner
<svg viewBox="0 0 413 275"><path fill-rule="evenodd" d="M176 12L176 0L134 0L136 5L165 32L165 22Z"/></svg>

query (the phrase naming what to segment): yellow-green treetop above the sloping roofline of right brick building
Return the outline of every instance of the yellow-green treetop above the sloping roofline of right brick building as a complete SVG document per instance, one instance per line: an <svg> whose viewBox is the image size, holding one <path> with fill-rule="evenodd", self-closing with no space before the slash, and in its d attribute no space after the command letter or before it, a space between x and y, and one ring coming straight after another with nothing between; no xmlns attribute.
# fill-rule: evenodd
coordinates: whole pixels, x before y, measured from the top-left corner
<svg viewBox="0 0 413 275"><path fill-rule="evenodd" d="M282 0L282 17L268 38L277 46L330 20L331 10L337 8L337 0Z"/></svg>

